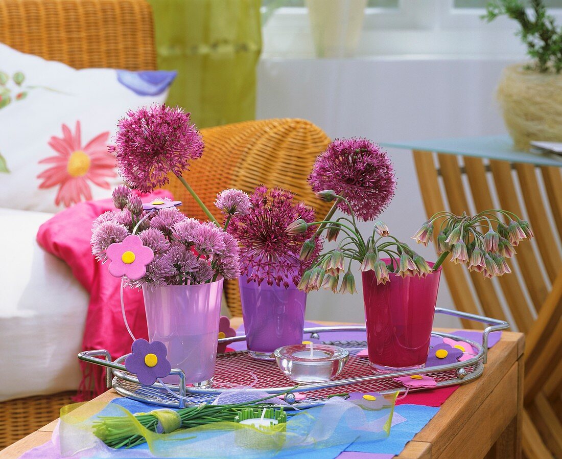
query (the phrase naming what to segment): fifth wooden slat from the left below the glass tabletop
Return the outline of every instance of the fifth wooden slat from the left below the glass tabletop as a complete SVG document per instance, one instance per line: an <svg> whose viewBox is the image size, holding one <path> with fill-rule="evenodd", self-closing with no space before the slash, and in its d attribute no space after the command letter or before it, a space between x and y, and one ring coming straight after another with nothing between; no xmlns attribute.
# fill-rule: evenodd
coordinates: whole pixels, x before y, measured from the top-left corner
<svg viewBox="0 0 562 459"><path fill-rule="evenodd" d="M519 185L527 207L529 223L533 228L538 249L542 255L547 275L553 281L558 273L562 260L556 248L556 242L546 214L541 192L538 188L537 176L532 164L516 163L515 170L519 177Z"/></svg>

